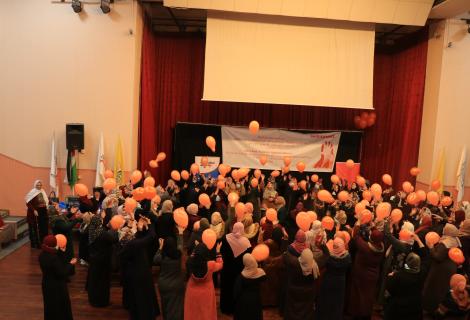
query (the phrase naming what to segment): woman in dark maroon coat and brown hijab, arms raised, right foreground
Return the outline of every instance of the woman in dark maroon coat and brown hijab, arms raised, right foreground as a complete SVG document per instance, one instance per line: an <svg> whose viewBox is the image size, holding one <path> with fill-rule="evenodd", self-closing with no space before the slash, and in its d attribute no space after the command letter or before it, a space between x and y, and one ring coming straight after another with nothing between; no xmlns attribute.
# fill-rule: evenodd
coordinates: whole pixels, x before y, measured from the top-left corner
<svg viewBox="0 0 470 320"><path fill-rule="evenodd" d="M370 319L375 302L380 265L384 258L384 235L377 229L370 232L368 241L354 230L356 248L351 272L348 313L354 319Z"/></svg>

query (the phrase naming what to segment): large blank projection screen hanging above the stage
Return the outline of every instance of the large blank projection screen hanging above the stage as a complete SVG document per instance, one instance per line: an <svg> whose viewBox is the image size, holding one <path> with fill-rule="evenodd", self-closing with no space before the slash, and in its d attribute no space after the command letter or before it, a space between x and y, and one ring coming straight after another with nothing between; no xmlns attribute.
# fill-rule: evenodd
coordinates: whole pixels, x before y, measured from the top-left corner
<svg viewBox="0 0 470 320"><path fill-rule="evenodd" d="M373 109L374 25L209 11L203 100Z"/></svg>

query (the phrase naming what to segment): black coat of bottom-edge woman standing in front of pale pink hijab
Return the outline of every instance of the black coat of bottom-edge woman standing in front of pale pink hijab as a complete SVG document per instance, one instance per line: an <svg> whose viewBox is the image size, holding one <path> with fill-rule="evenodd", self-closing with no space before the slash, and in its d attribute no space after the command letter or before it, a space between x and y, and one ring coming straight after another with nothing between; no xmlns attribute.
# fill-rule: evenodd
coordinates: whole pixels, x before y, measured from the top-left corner
<svg viewBox="0 0 470 320"><path fill-rule="evenodd" d="M260 286L264 280L266 280L266 276L257 279L247 279L240 274L237 277L233 288L233 302L235 305L233 319L263 319Z"/></svg>

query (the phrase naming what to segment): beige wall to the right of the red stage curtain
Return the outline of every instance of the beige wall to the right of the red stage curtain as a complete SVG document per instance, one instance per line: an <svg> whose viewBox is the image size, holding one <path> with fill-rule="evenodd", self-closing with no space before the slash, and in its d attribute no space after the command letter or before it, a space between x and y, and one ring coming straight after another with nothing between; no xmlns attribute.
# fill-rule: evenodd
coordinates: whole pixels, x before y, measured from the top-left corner
<svg viewBox="0 0 470 320"><path fill-rule="evenodd" d="M444 150L443 184L455 186L461 150L464 145L470 148L469 58L470 34L465 22L441 21L431 28L419 150L422 183L435 178L440 152ZM470 170L466 185L470 185Z"/></svg>

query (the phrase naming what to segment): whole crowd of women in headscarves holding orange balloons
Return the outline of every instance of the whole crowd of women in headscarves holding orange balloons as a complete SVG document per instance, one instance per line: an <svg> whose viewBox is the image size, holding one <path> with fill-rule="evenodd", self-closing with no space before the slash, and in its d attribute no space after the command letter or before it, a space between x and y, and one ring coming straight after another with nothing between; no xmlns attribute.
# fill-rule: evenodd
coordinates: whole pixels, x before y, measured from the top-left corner
<svg viewBox="0 0 470 320"><path fill-rule="evenodd" d="M316 175L264 173L217 179L193 171L139 197L153 188L146 173L82 193L67 209L35 182L26 202L31 246L42 243L45 319L72 319L74 226L89 303L109 304L117 272L130 319L262 319L265 308L302 320L467 317L468 203L454 204L446 192L436 202L408 186L382 191L333 179L327 190ZM262 259L259 244L269 248Z"/></svg>

